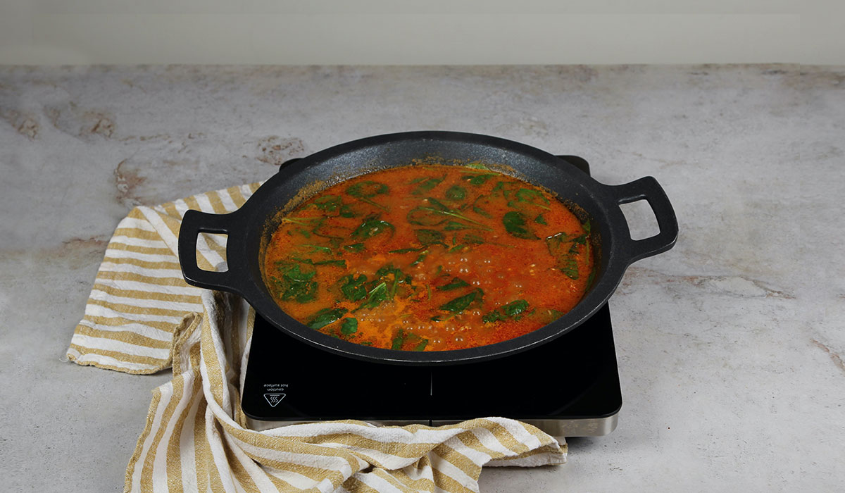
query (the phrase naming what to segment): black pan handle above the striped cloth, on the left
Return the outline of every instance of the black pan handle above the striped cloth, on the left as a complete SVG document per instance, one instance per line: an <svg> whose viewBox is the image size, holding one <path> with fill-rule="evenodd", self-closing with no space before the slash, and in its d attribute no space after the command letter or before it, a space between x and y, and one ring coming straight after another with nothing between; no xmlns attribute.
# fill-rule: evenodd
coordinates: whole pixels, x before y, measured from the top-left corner
<svg viewBox="0 0 845 493"><path fill-rule="evenodd" d="M208 214L200 211L186 211L179 227L179 265L185 282L198 288L216 289L237 293L235 276L232 273L232 242L237 241L237 218L231 214ZM204 271L197 265L197 237L199 233L227 234L226 260L229 260L228 271Z"/></svg>

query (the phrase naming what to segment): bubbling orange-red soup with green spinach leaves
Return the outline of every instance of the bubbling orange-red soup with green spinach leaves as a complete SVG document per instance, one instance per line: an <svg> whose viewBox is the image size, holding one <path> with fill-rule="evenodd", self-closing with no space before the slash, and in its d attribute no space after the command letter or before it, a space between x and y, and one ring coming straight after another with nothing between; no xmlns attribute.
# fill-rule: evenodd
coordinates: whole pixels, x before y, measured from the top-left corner
<svg viewBox="0 0 845 493"><path fill-rule="evenodd" d="M593 277L590 223L479 164L395 167L281 219L264 277L288 315L377 348L502 342L572 309Z"/></svg>

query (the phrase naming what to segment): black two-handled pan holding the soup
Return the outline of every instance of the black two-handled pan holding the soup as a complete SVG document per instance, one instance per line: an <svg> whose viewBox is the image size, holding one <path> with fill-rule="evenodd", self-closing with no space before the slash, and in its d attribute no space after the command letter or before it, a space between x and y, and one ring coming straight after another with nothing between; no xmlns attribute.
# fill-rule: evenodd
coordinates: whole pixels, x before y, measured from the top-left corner
<svg viewBox="0 0 845 493"><path fill-rule="evenodd" d="M327 336L286 315L270 296L261 272L262 247L281 221L282 207L294 198L307 199L297 197L300 190L314 194L344 179L386 167L406 166L421 158L504 165L508 167L504 173L548 189L565 203L574 203L570 209L581 221L591 220L591 232L597 238L597 275L581 302L558 320L525 336L453 351L372 348ZM657 217L660 232L651 238L630 238L619 205L635 200L647 200ZM199 233L228 235L228 271L199 269L195 255ZM179 231L179 261L188 284L240 294L281 331L331 353L395 364L458 364L506 356L562 336L607 303L632 262L672 248L677 238L678 222L672 205L654 178L622 185L600 184L561 158L528 145L488 135L427 131L354 140L293 162L231 214L186 212Z"/></svg>

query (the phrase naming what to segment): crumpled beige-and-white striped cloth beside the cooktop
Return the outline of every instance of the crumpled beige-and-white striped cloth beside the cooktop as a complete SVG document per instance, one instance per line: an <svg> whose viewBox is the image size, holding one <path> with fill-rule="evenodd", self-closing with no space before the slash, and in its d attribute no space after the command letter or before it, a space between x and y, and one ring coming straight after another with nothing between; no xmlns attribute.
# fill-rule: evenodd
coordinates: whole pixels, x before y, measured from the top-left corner
<svg viewBox="0 0 845 493"><path fill-rule="evenodd" d="M134 374L173 369L153 391L126 491L477 491L483 465L566 462L565 442L504 418L251 430L240 388L254 311L236 295L188 286L176 252L185 211L234 211L259 185L136 207L106 248L68 358ZM225 266L225 239L201 234L197 248L199 266Z"/></svg>

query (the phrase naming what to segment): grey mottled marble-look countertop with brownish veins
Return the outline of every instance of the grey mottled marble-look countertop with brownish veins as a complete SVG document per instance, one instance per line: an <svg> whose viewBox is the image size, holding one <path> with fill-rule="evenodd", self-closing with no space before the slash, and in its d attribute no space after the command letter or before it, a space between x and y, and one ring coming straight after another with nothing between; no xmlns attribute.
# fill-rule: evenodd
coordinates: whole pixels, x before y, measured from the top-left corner
<svg viewBox="0 0 845 493"><path fill-rule="evenodd" d="M416 129L493 134L651 175L674 249L611 309L624 405L562 466L493 491L836 490L845 484L845 68L0 68L0 477L115 491L160 375L64 361L114 227L269 177L286 159ZM643 207L631 227L656 227ZM566 362L550 383L564 385Z"/></svg>

